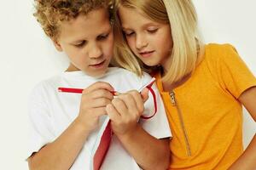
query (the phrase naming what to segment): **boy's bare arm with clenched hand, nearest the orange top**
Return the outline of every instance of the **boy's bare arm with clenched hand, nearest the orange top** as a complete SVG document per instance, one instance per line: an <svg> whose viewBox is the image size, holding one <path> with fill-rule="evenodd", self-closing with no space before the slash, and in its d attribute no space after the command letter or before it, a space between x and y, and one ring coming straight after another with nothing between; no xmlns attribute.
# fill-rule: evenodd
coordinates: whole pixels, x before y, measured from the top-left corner
<svg viewBox="0 0 256 170"><path fill-rule="evenodd" d="M169 139L155 139L137 122L143 113L143 100L147 98L147 88L142 95L137 91L121 94L107 105L108 116L113 132L140 167L166 170L170 163Z"/></svg>

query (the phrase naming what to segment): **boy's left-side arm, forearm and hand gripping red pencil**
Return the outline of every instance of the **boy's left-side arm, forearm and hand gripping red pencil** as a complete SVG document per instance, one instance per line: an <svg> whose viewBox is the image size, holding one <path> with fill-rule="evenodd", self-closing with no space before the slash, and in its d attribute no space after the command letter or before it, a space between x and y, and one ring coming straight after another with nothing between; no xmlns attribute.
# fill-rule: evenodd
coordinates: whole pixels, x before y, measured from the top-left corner
<svg viewBox="0 0 256 170"><path fill-rule="evenodd" d="M98 125L98 118L106 112L111 103L113 88L105 82L96 82L83 92L79 116L55 139L46 144L28 159L30 169L63 170L69 169L90 132Z"/></svg>

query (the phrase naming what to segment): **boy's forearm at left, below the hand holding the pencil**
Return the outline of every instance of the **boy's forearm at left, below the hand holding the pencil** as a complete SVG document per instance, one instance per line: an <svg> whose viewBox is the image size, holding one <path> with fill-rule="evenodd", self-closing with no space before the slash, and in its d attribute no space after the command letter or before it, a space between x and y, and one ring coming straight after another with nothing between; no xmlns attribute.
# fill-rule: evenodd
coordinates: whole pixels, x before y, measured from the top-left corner
<svg viewBox="0 0 256 170"><path fill-rule="evenodd" d="M29 158L30 169L69 169L88 135L84 127L75 120L59 138L45 145Z"/></svg>

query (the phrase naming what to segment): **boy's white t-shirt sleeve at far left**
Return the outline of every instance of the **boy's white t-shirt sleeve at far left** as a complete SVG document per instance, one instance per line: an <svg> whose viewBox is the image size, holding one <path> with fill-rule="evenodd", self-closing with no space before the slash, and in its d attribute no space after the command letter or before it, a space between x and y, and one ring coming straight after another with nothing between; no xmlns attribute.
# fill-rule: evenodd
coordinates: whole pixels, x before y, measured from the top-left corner
<svg viewBox="0 0 256 170"><path fill-rule="evenodd" d="M28 99L29 136L26 159L55 138L50 121L49 107L44 98L44 88L39 84Z"/></svg>

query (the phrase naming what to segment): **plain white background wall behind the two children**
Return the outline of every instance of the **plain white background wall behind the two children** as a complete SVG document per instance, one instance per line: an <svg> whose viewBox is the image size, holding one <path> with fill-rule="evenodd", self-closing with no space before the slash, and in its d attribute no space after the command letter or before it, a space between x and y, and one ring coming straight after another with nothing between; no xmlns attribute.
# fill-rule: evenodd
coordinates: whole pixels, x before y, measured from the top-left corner
<svg viewBox="0 0 256 170"><path fill-rule="evenodd" d="M194 0L206 42L232 43L256 74L256 2ZM67 66L32 16L32 0L1 1L0 6L0 168L26 165L27 97L39 81ZM245 111L244 144L256 132Z"/></svg>

